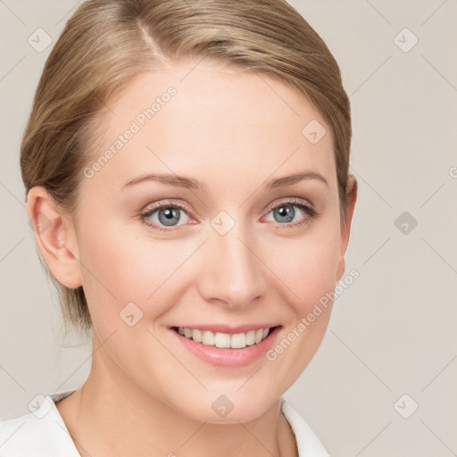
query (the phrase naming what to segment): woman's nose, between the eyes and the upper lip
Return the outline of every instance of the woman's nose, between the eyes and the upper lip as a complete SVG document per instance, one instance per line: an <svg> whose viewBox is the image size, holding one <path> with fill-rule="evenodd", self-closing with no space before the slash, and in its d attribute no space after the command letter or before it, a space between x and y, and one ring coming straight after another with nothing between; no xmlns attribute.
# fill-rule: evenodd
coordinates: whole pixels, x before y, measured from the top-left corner
<svg viewBox="0 0 457 457"><path fill-rule="evenodd" d="M204 299L242 309L262 297L267 269L254 234L237 223L225 235L211 228L209 237L197 279Z"/></svg>

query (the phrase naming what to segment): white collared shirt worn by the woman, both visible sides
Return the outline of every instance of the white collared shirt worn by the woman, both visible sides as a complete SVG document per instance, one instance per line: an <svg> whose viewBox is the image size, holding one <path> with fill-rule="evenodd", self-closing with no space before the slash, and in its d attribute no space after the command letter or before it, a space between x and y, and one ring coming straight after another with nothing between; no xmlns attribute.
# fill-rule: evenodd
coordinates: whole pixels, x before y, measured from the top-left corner
<svg viewBox="0 0 457 457"><path fill-rule="evenodd" d="M42 403L37 400L36 411L0 421L0 456L80 457L55 406L56 402L73 392L42 395ZM30 407L33 406L32 403ZM329 457L312 428L284 398L281 398L281 411L294 431L300 457Z"/></svg>

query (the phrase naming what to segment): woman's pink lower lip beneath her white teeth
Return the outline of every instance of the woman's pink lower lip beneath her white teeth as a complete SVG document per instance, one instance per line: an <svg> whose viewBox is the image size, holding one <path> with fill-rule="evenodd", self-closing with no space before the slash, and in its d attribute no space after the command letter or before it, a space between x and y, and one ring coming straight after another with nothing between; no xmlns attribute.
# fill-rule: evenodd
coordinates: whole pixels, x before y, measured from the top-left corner
<svg viewBox="0 0 457 457"><path fill-rule="evenodd" d="M200 359L211 363L212 365L219 367L245 367L254 361L257 361L262 357L262 355L267 353L273 345L279 329L280 326L270 330L268 336L257 345L245 346L241 349L208 346L179 335L179 333L172 328L170 328L170 332L175 337L178 337L181 344L184 345L188 351L194 353L200 357Z"/></svg>

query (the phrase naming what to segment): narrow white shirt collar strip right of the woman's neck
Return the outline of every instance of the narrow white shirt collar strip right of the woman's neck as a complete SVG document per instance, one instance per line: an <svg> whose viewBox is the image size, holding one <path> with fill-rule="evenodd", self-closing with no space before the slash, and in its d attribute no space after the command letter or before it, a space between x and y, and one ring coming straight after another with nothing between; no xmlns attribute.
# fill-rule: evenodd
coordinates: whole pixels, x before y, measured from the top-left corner
<svg viewBox="0 0 457 457"><path fill-rule="evenodd" d="M299 457L312 455L313 457L329 457L329 454L320 442L319 437L314 433L302 416L283 397L281 398L281 411L292 428Z"/></svg>

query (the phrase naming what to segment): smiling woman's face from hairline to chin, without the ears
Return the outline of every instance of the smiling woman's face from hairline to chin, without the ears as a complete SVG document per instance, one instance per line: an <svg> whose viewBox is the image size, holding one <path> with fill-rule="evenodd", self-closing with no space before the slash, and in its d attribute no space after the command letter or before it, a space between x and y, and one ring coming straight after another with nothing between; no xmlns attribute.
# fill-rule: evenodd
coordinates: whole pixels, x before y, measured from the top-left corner
<svg viewBox="0 0 457 457"><path fill-rule="evenodd" d="M287 84L207 62L142 74L108 105L67 244L96 372L197 420L253 420L311 361L344 272L328 125ZM179 327L249 333L216 335L245 345L228 349ZM275 329L253 345L260 328Z"/></svg>

